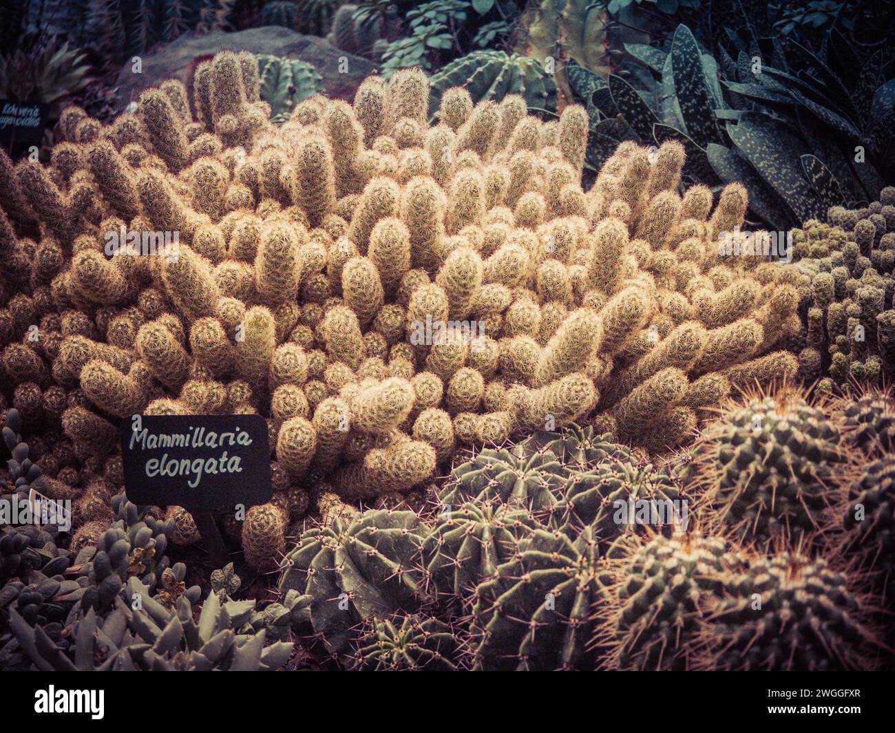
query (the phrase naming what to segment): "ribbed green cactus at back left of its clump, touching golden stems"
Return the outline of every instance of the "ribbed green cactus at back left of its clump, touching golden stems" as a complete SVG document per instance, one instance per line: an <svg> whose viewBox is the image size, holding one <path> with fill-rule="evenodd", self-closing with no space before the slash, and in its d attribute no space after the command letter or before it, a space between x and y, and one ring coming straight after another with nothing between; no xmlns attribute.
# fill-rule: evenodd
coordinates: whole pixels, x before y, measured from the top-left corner
<svg viewBox="0 0 895 733"><path fill-rule="evenodd" d="M516 455L501 448L484 448L456 466L439 490L444 507L458 507L468 501L499 501L548 509L557 503L553 490L567 479L567 469L552 453Z"/></svg>

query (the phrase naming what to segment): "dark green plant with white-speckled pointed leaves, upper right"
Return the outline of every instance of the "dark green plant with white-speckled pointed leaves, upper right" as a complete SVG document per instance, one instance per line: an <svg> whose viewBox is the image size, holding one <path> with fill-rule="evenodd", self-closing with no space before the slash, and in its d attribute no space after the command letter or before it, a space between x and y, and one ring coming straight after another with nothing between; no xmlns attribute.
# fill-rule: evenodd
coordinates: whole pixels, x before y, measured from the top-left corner
<svg viewBox="0 0 895 733"><path fill-rule="evenodd" d="M591 113L589 162L624 140L678 140L685 182L744 183L754 217L777 229L874 200L892 173L895 52L882 47L861 64L834 30L822 59L794 40L760 41L741 20L744 35L726 30L717 59L684 25L667 51L626 45L650 72L636 87L570 63Z"/></svg>

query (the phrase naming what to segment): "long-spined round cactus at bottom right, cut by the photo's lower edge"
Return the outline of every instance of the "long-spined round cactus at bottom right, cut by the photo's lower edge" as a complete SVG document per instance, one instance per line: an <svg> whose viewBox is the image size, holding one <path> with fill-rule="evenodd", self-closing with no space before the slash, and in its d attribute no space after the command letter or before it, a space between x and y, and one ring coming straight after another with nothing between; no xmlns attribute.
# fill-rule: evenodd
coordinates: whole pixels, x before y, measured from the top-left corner
<svg viewBox="0 0 895 733"><path fill-rule="evenodd" d="M724 584L703 629L697 668L830 671L874 669L881 650L865 599L821 558L753 558Z"/></svg>

